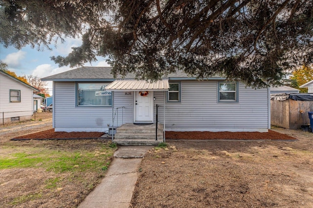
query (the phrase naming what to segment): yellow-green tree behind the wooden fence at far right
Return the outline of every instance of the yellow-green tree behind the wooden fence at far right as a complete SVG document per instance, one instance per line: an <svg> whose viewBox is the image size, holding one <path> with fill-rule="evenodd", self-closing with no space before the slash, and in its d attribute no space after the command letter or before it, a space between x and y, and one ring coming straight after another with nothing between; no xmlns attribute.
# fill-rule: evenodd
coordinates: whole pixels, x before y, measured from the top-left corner
<svg viewBox="0 0 313 208"><path fill-rule="evenodd" d="M308 92L308 88L300 88L302 84L313 80L313 67L301 66L293 71L290 77L291 87L299 89L300 92Z"/></svg>

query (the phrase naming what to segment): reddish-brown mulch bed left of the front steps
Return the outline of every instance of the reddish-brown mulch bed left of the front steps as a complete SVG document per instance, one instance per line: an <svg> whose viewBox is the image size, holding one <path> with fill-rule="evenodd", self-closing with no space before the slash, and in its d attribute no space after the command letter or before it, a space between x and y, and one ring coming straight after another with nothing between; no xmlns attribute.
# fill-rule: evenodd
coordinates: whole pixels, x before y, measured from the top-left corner
<svg viewBox="0 0 313 208"><path fill-rule="evenodd" d="M33 134L28 134L20 137L15 137L13 140L21 139L94 139L99 138L103 135L103 132L65 132L65 131L54 131L54 128L40 131Z"/></svg>

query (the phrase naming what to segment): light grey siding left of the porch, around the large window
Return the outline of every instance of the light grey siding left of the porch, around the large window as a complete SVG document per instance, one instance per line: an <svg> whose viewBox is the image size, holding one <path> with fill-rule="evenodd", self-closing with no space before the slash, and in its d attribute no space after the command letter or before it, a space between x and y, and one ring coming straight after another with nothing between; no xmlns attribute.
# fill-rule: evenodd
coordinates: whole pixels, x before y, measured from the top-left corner
<svg viewBox="0 0 313 208"><path fill-rule="evenodd" d="M75 82L54 82L56 131L106 131L112 124L111 106L77 106Z"/></svg>

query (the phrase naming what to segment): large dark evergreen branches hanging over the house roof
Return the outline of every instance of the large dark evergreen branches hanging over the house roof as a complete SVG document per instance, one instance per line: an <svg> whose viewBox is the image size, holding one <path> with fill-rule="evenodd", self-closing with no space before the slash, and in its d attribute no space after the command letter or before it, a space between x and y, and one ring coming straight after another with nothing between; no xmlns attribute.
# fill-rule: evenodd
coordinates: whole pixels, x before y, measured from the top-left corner
<svg viewBox="0 0 313 208"><path fill-rule="evenodd" d="M262 87L313 62L313 0L0 0L0 43L82 37L62 65L109 57L114 75L177 69Z"/></svg>

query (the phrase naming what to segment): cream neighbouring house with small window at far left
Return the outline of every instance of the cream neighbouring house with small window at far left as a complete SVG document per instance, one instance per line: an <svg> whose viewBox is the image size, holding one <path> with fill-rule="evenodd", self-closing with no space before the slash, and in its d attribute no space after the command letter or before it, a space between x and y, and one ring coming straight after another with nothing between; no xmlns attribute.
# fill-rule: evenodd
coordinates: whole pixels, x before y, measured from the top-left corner
<svg viewBox="0 0 313 208"><path fill-rule="evenodd" d="M0 70L0 123L31 119L39 90Z"/></svg>

